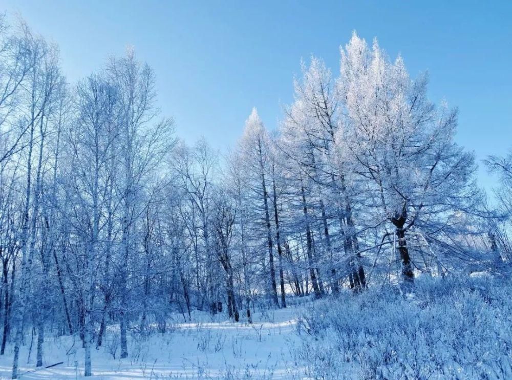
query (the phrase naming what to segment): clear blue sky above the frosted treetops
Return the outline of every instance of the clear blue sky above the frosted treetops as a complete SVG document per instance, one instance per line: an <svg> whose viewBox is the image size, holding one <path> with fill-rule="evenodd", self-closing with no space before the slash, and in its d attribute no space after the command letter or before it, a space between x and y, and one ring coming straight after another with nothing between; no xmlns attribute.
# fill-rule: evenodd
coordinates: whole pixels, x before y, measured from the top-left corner
<svg viewBox="0 0 512 380"><path fill-rule="evenodd" d="M430 96L460 110L457 141L477 158L512 148L512 1L0 0L61 49L69 81L134 45L157 74L162 111L180 137L225 149L253 106L275 128L300 59L339 70L352 30L401 53ZM480 171L481 184L490 178Z"/></svg>

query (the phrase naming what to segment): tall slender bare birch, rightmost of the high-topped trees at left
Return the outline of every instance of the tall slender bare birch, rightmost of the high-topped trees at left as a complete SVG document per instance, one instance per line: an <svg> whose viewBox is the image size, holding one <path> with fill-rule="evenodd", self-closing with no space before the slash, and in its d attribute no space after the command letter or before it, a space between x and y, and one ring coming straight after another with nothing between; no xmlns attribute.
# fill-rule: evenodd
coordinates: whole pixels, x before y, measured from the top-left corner
<svg viewBox="0 0 512 380"><path fill-rule="evenodd" d="M136 246L134 228L142 214L147 176L164 161L174 143L172 119L156 122L155 77L152 69L142 65L132 48L120 58L112 58L107 69L110 81L117 88L120 118L119 168L116 188L121 201L121 252L119 267L121 315L121 357L128 355L126 328L130 289L127 266Z"/></svg>

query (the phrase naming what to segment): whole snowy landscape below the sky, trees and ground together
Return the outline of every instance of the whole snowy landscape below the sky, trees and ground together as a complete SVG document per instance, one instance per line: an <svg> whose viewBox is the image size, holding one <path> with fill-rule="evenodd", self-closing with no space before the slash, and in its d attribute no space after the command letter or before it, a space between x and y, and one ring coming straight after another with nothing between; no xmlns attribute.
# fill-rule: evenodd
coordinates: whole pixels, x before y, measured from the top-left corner
<svg viewBox="0 0 512 380"><path fill-rule="evenodd" d="M341 43L224 152L133 48L70 83L0 18L0 376L512 376L512 154L477 160L428 74Z"/></svg>

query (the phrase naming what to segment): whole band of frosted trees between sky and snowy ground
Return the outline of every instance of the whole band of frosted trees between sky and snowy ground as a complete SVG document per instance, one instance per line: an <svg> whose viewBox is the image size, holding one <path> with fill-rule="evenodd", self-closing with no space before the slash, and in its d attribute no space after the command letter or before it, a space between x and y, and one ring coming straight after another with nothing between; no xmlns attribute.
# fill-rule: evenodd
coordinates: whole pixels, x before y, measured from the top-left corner
<svg viewBox="0 0 512 380"><path fill-rule="evenodd" d="M71 335L91 376L93 342L114 358L119 342L126 358L131 339L163 333L175 318L210 312L252 323L259 307L307 296L327 308L349 302L348 312L322 314L352 331L361 310L374 310L368 299L409 302L380 285L411 289L419 273L509 273L512 157L486 161L501 179L490 212L473 154L455 141L457 110L431 102L427 76L412 79L376 41L354 34L339 75L321 58L302 63L277 128L254 108L225 157L204 138L175 141L154 72L132 48L67 84L57 47L6 20L0 355L13 352L13 378L28 332L29 364L46 365L47 336ZM344 291L370 287L357 299ZM313 314L312 337L326 321ZM409 342L401 327L393 334ZM349 346L360 353L359 343Z"/></svg>

